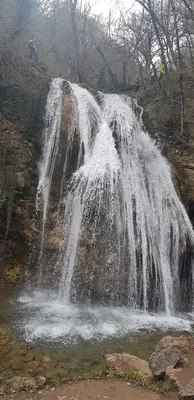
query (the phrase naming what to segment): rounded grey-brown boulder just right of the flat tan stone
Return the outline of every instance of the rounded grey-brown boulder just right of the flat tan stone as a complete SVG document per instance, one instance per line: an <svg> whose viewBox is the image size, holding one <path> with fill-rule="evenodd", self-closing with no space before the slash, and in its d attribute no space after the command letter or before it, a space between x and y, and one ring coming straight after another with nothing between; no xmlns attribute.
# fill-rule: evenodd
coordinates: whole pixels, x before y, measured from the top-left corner
<svg viewBox="0 0 194 400"><path fill-rule="evenodd" d="M163 378L167 367L176 367L181 359L181 351L174 346L155 351L150 357L150 368L155 378Z"/></svg>

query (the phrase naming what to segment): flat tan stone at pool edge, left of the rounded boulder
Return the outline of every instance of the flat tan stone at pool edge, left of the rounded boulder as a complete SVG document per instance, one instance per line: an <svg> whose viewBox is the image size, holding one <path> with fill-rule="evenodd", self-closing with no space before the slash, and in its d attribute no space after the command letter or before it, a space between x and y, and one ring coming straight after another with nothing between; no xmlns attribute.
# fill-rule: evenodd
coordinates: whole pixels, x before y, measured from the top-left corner
<svg viewBox="0 0 194 400"><path fill-rule="evenodd" d="M114 368L120 373L137 372L144 380L152 378L152 371L149 363L139 357L132 356L131 354L106 354L105 361L108 367Z"/></svg>

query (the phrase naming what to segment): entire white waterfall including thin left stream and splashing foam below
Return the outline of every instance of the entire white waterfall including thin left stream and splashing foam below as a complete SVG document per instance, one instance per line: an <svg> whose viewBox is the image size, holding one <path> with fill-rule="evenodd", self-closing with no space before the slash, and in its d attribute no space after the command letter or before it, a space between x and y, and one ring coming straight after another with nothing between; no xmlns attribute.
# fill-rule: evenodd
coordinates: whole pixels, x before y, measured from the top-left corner
<svg viewBox="0 0 194 400"><path fill-rule="evenodd" d="M68 329L60 322L59 336L62 331L64 335L76 331L92 337L121 334L134 326L143 328L148 311L158 312L158 324L163 326L164 318L171 318L170 326L175 328L174 313L191 310L194 234L173 187L170 167L142 130L128 97L100 93L97 102L86 89L75 84L70 87L75 103L73 123L76 121L79 132L77 169L68 182L61 177L60 203L56 208L63 237L55 261L57 283L52 304L42 295L37 297L41 310L46 307L48 314L48 309L56 309L57 304L57 312L60 308L63 318L68 319ZM46 247L44 235L62 99L62 81L54 80L46 114L49 120L52 109L53 124L44 131L37 191L38 199L43 199L41 254ZM74 133L72 129L71 134ZM70 145L73 142L74 136L68 138ZM183 260L188 249L190 260L185 272ZM43 269L44 275L48 274L47 265ZM185 304L184 273L190 287ZM29 297L21 301L31 304ZM84 312L89 322L80 323ZM155 319L150 318L157 317L149 316L149 327L155 324ZM182 319L178 322L180 327L179 323ZM44 335L45 330L48 333L44 323L42 330L37 324L35 337ZM32 325L31 321L28 328ZM188 325L186 319L184 328Z"/></svg>

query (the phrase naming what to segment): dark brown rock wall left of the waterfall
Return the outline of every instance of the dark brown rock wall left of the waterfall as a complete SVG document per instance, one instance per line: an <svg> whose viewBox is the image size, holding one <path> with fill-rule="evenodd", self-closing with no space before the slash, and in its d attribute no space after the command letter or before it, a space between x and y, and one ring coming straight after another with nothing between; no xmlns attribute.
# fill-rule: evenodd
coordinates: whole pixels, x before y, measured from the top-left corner
<svg viewBox="0 0 194 400"><path fill-rule="evenodd" d="M1 271L13 263L24 265L26 242L37 235L33 224L37 160L49 79L38 73L33 78L26 86L0 85Z"/></svg>

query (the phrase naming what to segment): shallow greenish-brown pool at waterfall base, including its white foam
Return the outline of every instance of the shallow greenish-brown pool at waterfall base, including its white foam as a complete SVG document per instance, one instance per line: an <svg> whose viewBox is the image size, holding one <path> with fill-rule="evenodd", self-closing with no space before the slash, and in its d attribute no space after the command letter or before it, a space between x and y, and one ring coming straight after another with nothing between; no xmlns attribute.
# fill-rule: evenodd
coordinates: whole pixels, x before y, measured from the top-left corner
<svg viewBox="0 0 194 400"><path fill-rule="evenodd" d="M78 306L43 291L4 296L1 320L13 336L65 362L69 370L100 363L106 353L148 359L166 334L192 334L194 315L145 313L127 307Z"/></svg>

